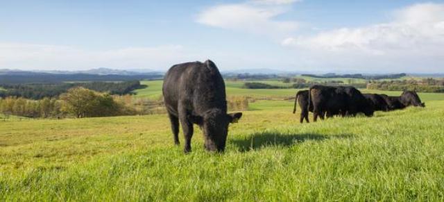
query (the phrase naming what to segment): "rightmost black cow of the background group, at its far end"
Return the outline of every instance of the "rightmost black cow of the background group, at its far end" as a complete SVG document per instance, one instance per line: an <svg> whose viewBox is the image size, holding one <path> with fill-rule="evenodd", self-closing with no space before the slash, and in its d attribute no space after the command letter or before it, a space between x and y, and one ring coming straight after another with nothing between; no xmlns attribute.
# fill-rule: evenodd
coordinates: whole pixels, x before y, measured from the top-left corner
<svg viewBox="0 0 444 202"><path fill-rule="evenodd" d="M421 99L414 91L404 90L401 96L386 96L386 99L391 110L400 110L409 106L425 107L425 103L421 103Z"/></svg>

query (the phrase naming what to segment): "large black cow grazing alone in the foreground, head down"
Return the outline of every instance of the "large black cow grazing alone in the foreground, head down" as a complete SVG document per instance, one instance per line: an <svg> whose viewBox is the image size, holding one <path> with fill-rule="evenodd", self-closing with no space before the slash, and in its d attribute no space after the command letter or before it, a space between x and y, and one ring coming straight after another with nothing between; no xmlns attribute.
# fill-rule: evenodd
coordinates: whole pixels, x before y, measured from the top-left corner
<svg viewBox="0 0 444 202"><path fill-rule="evenodd" d="M175 144L179 144L180 122L185 153L191 151L193 124L202 129L207 151L225 149L228 125L237 122L242 113L227 114L225 83L214 62L174 65L165 74L162 91Z"/></svg>

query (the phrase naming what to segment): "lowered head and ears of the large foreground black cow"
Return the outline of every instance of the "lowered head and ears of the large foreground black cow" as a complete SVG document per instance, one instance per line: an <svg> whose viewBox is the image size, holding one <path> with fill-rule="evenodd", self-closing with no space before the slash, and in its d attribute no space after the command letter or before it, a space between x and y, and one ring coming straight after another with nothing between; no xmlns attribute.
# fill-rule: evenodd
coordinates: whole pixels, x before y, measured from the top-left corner
<svg viewBox="0 0 444 202"><path fill-rule="evenodd" d="M202 129L207 151L224 151L228 125L237 123L241 117L241 112L227 114L222 110L212 109L207 110L202 116L189 116L189 119Z"/></svg>

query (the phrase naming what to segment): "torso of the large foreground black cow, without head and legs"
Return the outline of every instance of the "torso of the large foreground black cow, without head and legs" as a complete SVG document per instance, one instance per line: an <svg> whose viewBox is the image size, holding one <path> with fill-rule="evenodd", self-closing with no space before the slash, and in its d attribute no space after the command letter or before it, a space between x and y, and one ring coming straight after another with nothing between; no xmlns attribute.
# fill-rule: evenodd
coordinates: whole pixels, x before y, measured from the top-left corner
<svg viewBox="0 0 444 202"><path fill-rule="evenodd" d="M173 115L178 113L178 103L196 115L210 108L226 112L225 83L211 60L174 65L165 74L162 92Z"/></svg>

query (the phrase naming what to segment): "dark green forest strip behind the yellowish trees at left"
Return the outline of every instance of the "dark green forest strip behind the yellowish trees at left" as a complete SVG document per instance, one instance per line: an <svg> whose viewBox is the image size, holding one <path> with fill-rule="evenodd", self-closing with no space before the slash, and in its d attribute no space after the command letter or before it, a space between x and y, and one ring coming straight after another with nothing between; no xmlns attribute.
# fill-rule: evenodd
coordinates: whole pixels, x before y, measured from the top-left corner
<svg viewBox="0 0 444 202"><path fill-rule="evenodd" d="M34 83L34 84L2 84L0 97L17 96L26 99L43 99L44 97L56 97L72 87L84 87L97 92L108 94L130 94L133 90L144 87L140 81L122 82L85 82L85 83Z"/></svg>

